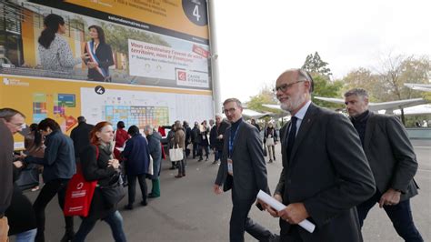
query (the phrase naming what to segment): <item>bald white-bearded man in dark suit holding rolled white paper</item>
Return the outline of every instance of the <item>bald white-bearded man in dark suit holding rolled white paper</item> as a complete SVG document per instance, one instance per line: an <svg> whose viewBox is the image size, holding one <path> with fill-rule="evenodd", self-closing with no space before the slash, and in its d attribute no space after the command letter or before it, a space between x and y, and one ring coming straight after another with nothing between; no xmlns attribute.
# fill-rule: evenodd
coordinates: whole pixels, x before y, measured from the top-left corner
<svg viewBox="0 0 431 242"><path fill-rule="evenodd" d="M356 205L375 193L359 136L349 120L311 103L313 79L301 69L276 80L280 106L292 115L281 129L283 170L274 197L281 241L362 241ZM316 225L308 233L297 224Z"/></svg>

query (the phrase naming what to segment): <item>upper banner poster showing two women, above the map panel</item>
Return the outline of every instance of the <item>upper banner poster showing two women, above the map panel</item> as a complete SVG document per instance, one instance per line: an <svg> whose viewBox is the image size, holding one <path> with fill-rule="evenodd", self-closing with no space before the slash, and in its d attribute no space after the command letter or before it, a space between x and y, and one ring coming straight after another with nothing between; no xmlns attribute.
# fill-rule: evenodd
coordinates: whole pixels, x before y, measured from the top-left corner
<svg viewBox="0 0 431 242"><path fill-rule="evenodd" d="M205 0L0 6L0 74L211 90Z"/></svg>

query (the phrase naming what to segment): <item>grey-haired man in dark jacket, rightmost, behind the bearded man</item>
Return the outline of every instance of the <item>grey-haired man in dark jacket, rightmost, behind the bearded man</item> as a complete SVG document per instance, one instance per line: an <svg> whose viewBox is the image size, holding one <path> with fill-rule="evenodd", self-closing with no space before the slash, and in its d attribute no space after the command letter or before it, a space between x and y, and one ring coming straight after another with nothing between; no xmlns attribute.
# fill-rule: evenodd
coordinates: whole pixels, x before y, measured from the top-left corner
<svg viewBox="0 0 431 242"><path fill-rule="evenodd" d="M358 205L362 227L371 207L384 208L396 232L406 241L424 241L413 222L410 197L417 195L417 162L406 129L396 116L374 114L368 110L366 90L355 88L345 94L346 109L355 126L376 178L376 193Z"/></svg>

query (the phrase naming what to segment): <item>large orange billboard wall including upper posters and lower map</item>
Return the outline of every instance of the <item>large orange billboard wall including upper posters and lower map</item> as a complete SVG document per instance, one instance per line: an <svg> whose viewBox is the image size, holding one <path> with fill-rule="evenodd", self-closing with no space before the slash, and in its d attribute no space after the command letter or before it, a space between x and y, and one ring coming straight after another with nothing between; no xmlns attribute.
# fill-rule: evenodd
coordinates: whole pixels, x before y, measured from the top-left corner
<svg viewBox="0 0 431 242"><path fill-rule="evenodd" d="M213 115L205 0L15 0L0 12L0 106L28 123L50 116L68 131L80 115L139 126Z"/></svg>

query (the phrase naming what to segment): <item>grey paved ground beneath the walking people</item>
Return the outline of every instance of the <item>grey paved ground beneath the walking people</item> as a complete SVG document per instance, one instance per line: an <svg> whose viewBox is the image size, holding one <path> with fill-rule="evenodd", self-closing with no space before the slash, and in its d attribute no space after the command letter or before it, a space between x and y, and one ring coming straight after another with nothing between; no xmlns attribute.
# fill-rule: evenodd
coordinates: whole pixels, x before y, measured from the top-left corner
<svg viewBox="0 0 431 242"><path fill-rule="evenodd" d="M412 141L419 162L416 181L421 187L419 196L411 200L416 226L425 241L431 241L431 140ZM279 146L277 147L279 148ZM277 153L279 153L277 151ZM210 157L210 160L212 160ZM268 182L271 190L281 171L281 156L268 164ZM177 179L164 161L161 186L162 197L149 201L147 207L138 206L132 211L121 210L128 241L228 241L228 223L232 208L230 192L216 196L212 186L218 169L211 161L189 160L187 176ZM148 181L149 185L150 182ZM37 192L25 193L32 200ZM121 202L124 207L126 199ZM278 233L278 221L266 212L252 209L250 217ZM63 236L64 221L56 199L46 209L46 235L48 241L59 241ZM79 219L75 218L75 229ZM384 210L374 207L368 215L363 234L366 241L402 241L396 236ZM109 227L99 222L87 241L113 241ZM246 241L254 241L246 235Z"/></svg>

